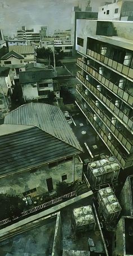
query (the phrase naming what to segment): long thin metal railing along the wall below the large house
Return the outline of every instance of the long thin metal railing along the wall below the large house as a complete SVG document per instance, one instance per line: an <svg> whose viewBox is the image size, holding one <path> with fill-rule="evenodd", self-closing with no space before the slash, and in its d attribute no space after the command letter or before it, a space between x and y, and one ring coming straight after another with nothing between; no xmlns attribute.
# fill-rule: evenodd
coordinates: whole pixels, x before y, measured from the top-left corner
<svg viewBox="0 0 133 256"><path fill-rule="evenodd" d="M63 199L68 199L70 197L76 197L76 195L77 195L76 191L72 191L72 192L70 192L68 194L62 195L61 197L52 199L51 201L48 201L48 202L43 203L43 204L40 204L39 206L33 207L33 208L31 208L31 209L29 209L27 211L21 212L20 216L12 216L12 217L8 217L5 220L1 220L0 221L0 226L1 225L5 225L7 223L10 223L11 221L20 219L20 217L32 214L33 212L38 212L38 211L40 211L40 210L42 210L42 209L44 209L44 208L46 208L48 206L52 206L53 204L61 202Z"/></svg>

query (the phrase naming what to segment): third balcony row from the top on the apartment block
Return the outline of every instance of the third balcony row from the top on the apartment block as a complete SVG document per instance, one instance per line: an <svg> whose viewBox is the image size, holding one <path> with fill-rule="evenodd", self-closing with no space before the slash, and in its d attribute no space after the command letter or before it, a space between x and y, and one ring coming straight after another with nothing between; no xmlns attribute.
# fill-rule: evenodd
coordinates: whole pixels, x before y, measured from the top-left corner
<svg viewBox="0 0 133 256"><path fill-rule="evenodd" d="M113 114L113 116L118 118L119 122L121 122L133 134L133 121L123 112L123 110L120 110L112 101L110 101L107 95L104 96L103 93L101 93L97 88L90 84L79 71L77 72L77 79L81 83L85 84L85 86L87 86L87 88L94 94L97 100L104 104Z"/></svg>

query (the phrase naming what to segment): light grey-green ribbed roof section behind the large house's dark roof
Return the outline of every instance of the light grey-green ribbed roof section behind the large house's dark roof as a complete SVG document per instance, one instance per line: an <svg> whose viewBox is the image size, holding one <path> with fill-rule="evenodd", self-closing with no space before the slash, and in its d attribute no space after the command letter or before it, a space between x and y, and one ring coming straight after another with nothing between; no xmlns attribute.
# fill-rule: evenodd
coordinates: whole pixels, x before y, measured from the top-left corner
<svg viewBox="0 0 133 256"><path fill-rule="evenodd" d="M58 106L29 103L11 111L5 124L37 126L65 143L83 151Z"/></svg>

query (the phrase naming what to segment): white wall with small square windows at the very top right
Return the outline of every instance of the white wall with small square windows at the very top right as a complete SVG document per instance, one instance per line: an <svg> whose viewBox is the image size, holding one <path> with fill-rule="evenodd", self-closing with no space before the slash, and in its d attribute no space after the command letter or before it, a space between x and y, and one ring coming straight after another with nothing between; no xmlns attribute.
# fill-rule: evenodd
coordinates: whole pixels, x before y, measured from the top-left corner
<svg viewBox="0 0 133 256"><path fill-rule="evenodd" d="M118 8L118 12L115 13L115 9ZM110 5L104 5L99 7L98 19L99 20L120 20L122 1L111 3ZM109 14L107 11L109 10Z"/></svg>

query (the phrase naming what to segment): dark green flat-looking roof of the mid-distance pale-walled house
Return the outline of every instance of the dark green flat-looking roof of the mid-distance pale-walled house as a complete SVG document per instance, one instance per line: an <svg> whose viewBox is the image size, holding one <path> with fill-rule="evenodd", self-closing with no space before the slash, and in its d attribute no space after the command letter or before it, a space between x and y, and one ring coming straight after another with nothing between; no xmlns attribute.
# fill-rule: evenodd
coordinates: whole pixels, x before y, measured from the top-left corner
<svg viewBox="0 0 133 256"><path fill-rule="evenodd" d="M24 71L19 74L19 82L23 83L34 83L41 82L44 79L54 78L56 71L53 70L39 70L39 71Z"/></svg>

